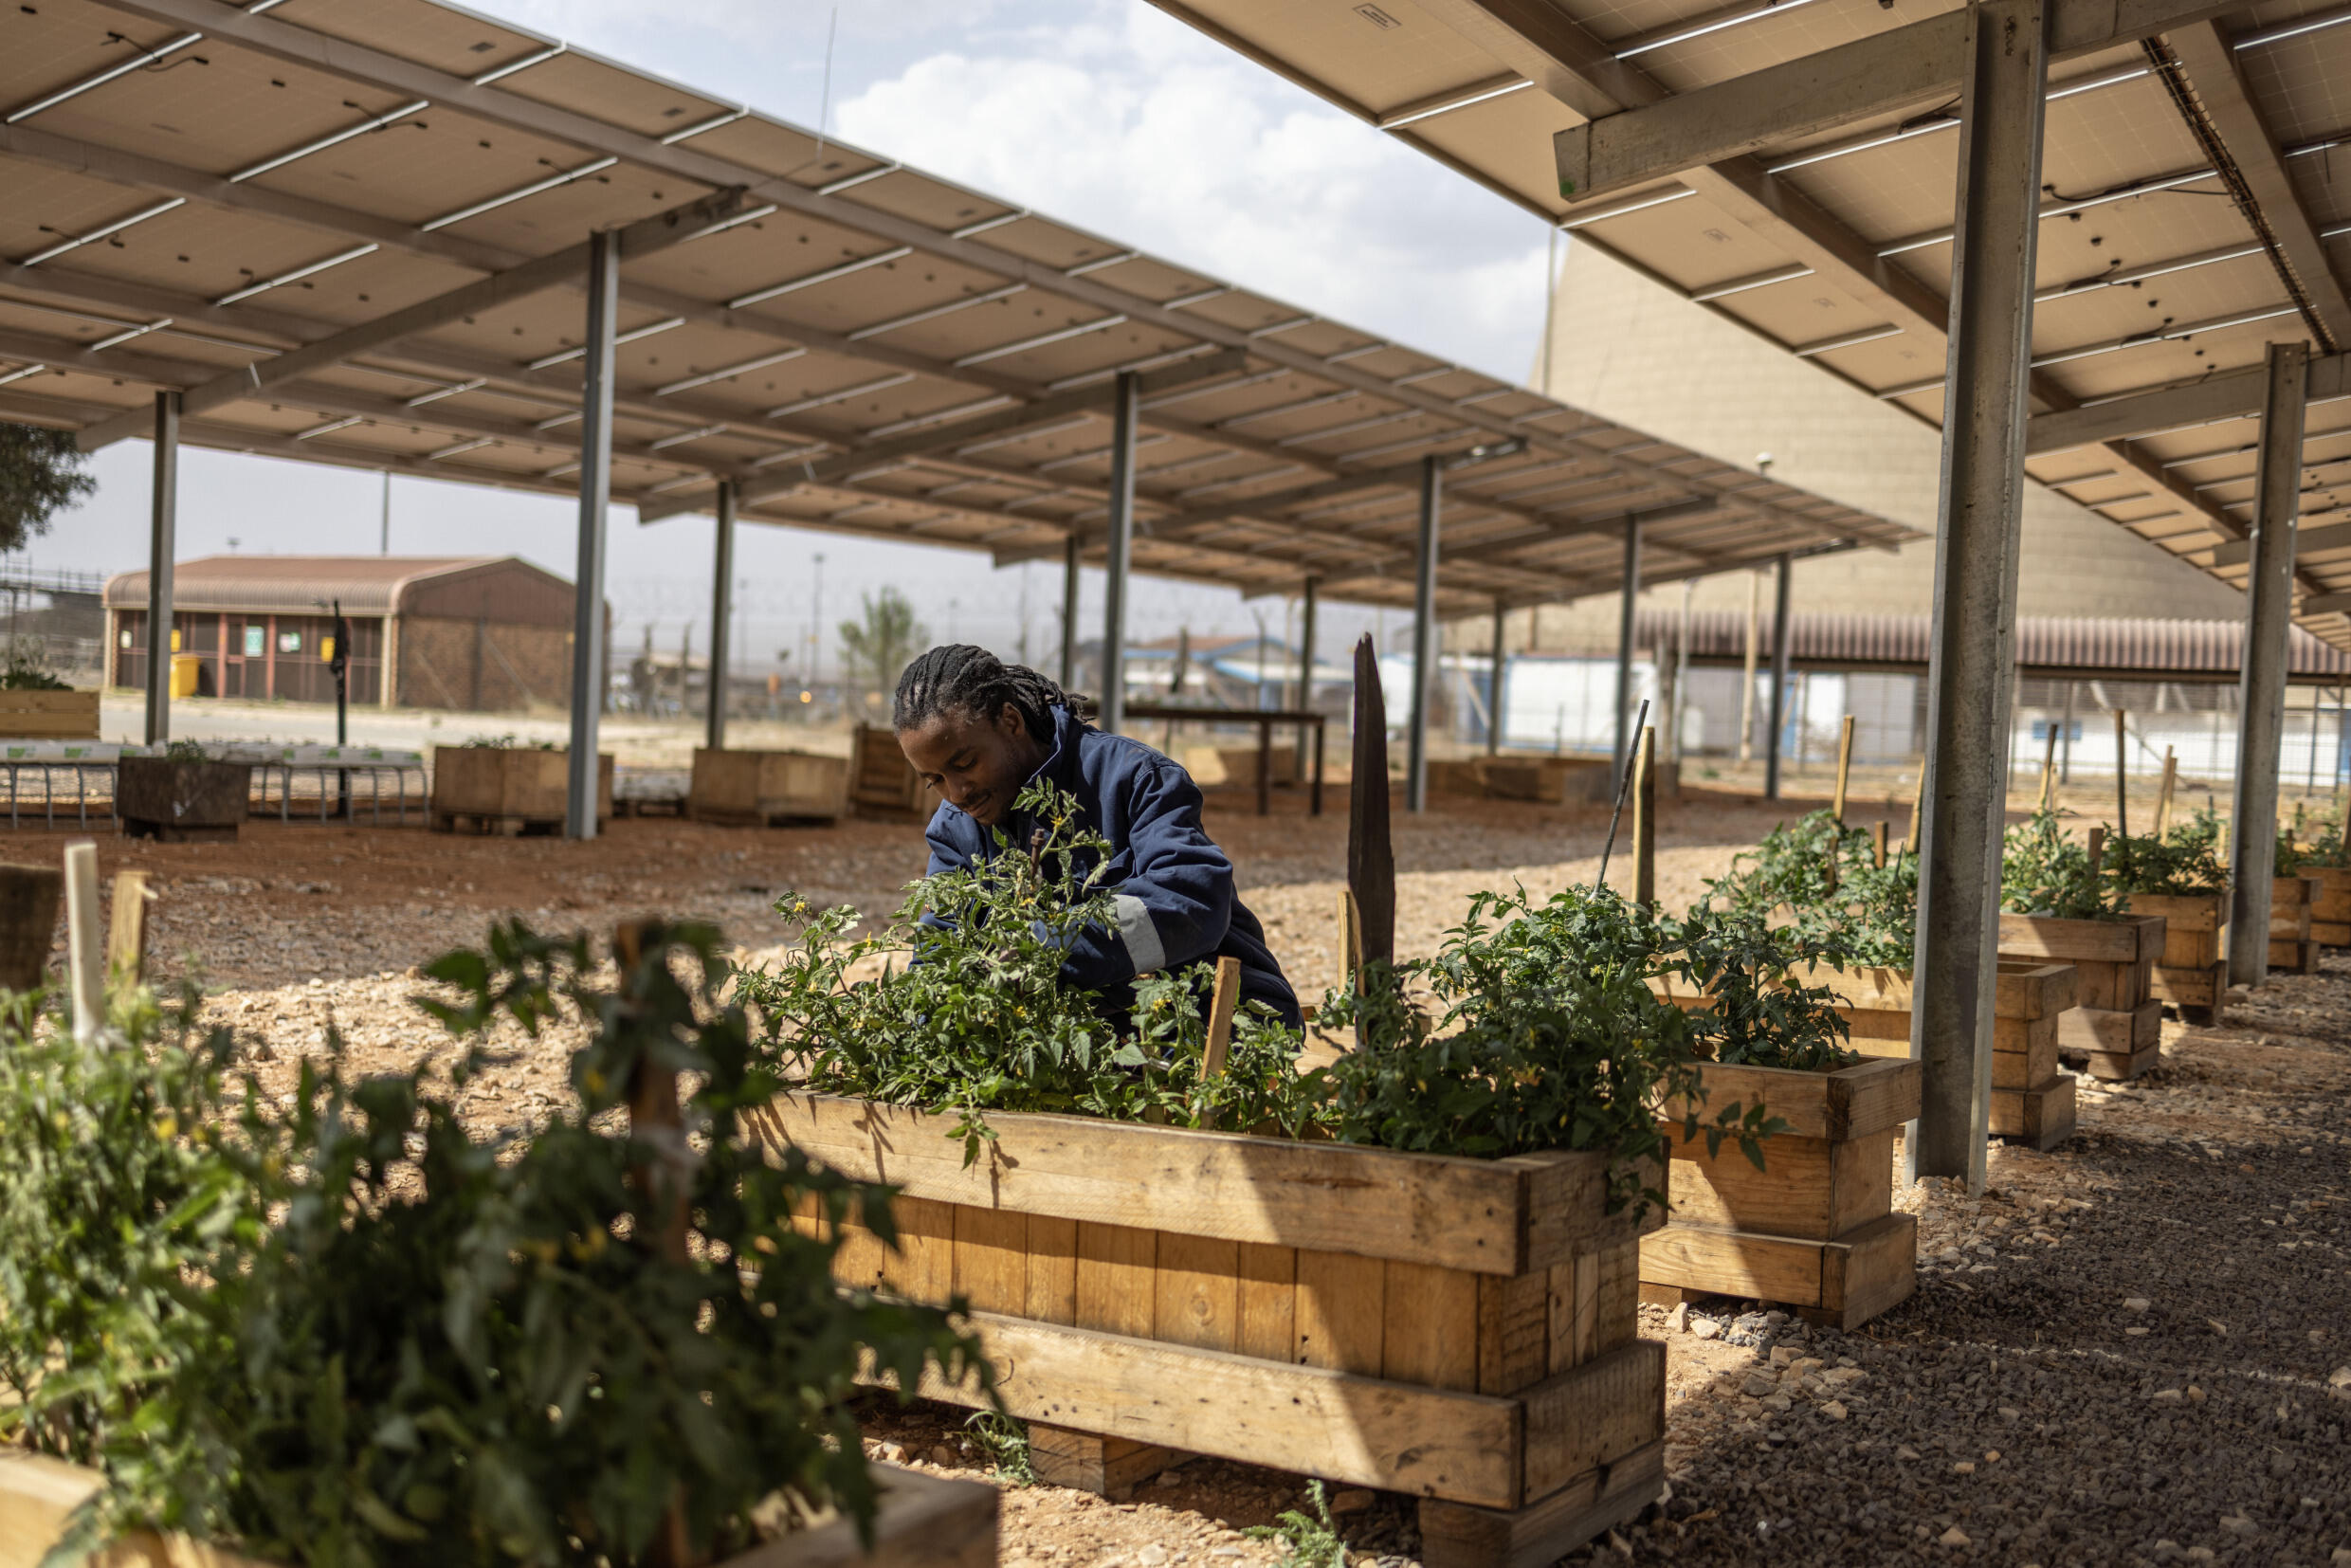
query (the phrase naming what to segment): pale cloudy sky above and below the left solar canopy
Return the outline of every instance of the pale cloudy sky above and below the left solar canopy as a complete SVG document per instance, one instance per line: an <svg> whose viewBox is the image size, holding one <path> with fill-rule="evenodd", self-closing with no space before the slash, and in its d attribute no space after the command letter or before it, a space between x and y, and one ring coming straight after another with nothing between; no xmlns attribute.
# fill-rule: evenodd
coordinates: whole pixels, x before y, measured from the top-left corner
<svg viewBox="0 0 2351 1568"><path fill-rule="evenodd" d="M1145 0L475 0L705 92L1051 212L1324 315L1521 378L1542 322L1542 226L1192 33ZM830 42L830 47L828 47ZM35 541L38 564L143 564L148 447L96 461L101 491ZM555 498L393 480L402 555L513 550L574 571L574 510ZM181 550L371 552L381 480L186 451ZM609 583L623 644L675 646L703 616L710 524L614 520ZM903 585L931 630L1011 651L1027 602L1051 639L1044 567L976 581L973 557L745 527L738 658L804 646L823 552L823 618ZM1096 614L1091 609L1084 614ZM1270 609L1279 628L1279 607ZM1138 637L1241 632L1251 607L1147 583ZM1345 625L1333 625L1333 637ZM797 663L797 661L795 661Z"/></svg>

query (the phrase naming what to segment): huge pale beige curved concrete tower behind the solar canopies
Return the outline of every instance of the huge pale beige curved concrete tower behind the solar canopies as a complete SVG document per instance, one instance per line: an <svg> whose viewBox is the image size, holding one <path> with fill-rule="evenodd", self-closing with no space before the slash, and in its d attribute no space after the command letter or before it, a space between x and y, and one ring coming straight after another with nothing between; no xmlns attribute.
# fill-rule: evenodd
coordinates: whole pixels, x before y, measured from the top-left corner
<svg viewBox="0 0 2351 1568"><path fill-rule="evenodd" d="M1561 402L1742 468L1768 451L1770 473L1789 484L1935 531L1942 435L1933 425L1573 240L1552 320L1549 390ZM1542 374L1538 355L1538 386ZM1799 562L1794 595L1799 614L1930 614L1935 545ZM1681 604L1681 585L1643 595L1643 604ZM1744 609L1747 574L1700 581L1695 604ZM1763 604L1768 611L1768 583ZM1615 614L1615 595L1545 609L1540 646L1613 639ZM2017 614L2236 621L2245 597L2034 484L2024 494ZM1521 625L1514 616L1512 642ZM1483 646L1486 628L1465 623L1455 635Z"/></svg>

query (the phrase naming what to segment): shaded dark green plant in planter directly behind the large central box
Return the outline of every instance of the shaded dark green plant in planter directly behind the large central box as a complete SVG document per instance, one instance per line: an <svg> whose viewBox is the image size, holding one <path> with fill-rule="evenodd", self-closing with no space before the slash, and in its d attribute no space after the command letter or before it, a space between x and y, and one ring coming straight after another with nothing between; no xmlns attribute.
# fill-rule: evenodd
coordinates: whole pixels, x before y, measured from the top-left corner
<svg viewBox="0 0 2351 1568"><path fill-rule="evenodd" d="M1796 969L1834 964L1838 950L1801 931L1773 929L1754 910L1690 910L1669 922L1667 969L1714 1006L1690 1016L1700 1056L1747 1067L1836 1072L1860 1060L1827 985L1799 985Z"/></svg>

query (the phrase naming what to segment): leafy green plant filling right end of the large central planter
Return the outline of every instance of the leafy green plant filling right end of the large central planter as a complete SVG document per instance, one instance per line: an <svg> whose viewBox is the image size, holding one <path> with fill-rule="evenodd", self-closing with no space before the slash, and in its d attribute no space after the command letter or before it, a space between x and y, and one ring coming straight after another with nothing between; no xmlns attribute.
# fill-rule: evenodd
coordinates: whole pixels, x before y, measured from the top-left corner
<svg viewBox="0 0 2351 1568"><path fill-rule="evenodd" d="M1643 1159L1665 1159L1657 1107L1693 1103L1683 1135L1737 1138L1749 1159L1773 1128L1761 1107L1700 1126L1697 1027L1650 990L1676 931L1608 889L1535 905L1523 889L1472 893L1469 917L1429 959L1368 964L1361 992L1324 1016L1357 1044L1324 1070L1342 1143L1432 1154L1610 1154L1610 1208L1665 1204ZM1408 1001L1434 997L1434 1016ZM1688 1100L1686 1100L1688 1098Z"/></svg>

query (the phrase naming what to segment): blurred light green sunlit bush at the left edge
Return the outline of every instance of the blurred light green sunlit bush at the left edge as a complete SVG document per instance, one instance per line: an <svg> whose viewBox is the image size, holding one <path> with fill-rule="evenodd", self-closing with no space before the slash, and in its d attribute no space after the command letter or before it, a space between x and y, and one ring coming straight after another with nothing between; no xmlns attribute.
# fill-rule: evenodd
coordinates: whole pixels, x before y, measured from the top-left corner
<svg viewBox="0 0 2351 1568"><path fill-rule="evenodd" d="M212 1345L202 1274L261 1232L263 1180L223 1145L235 1041L200 997L115 997L78 1041L0 992L0 1434L96 1465Z"/></svg>

